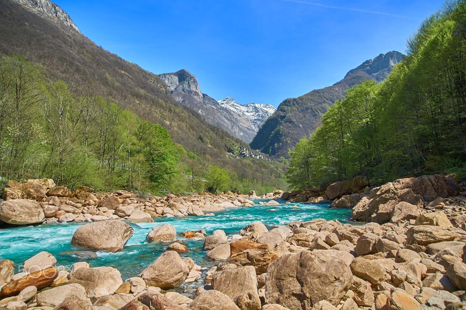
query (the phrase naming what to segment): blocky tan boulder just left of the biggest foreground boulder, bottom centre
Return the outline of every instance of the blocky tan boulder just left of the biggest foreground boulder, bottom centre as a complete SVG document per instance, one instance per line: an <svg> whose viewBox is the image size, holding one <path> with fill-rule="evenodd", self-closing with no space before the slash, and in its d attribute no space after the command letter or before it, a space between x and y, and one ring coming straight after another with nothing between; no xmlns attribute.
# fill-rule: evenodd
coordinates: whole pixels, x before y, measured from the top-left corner
<svg viewBox="0 0 466 310"><path fill-rule="evenodd" d="M212 289L218 290L232 299L250 290L259 298L256 271L252 266L215 272L212 278Z"/></svg>

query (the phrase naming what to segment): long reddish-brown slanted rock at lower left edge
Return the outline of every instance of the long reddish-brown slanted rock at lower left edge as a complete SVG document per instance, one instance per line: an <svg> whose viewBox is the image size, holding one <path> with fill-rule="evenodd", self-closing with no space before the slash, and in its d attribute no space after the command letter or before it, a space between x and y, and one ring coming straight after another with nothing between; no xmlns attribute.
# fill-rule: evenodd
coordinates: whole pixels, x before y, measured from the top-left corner
<svg viewBox="0 0 466 310"><path fill-rule="evenodd" d="M48 268L35 271L20 279L7 283L0 291L0 297L16 296L28 286L35 286L41 289L50 285L58 276L58 269Z"/></svg>

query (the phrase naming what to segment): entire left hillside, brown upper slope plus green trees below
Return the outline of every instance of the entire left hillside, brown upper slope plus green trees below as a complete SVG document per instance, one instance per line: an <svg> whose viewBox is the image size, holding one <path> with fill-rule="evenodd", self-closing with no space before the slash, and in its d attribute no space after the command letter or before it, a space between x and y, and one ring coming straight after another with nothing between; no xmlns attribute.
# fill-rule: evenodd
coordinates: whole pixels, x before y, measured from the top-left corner
<svg viewBox="0 0 466 310"><path fill-rule="evenodd" d="M0 1L0 54L7 55L1 63L2 182L52 177L97 189L179 192L202 190L204 175L215 166L229 172L224 189L286 187L280 163L230 158L228 148L247 144L174 100L158 75L59 20ZM21 80L24 72L29 73L27 81ZM21 96L14 87L20 84L26 92ZM149 150L157 143L169 150L169 157L158 163L167 166L166 180L150 172L157 156ZM82 166L79 161L86 159L89 166ZM137 173L140 179L133 180Z"/></svg>

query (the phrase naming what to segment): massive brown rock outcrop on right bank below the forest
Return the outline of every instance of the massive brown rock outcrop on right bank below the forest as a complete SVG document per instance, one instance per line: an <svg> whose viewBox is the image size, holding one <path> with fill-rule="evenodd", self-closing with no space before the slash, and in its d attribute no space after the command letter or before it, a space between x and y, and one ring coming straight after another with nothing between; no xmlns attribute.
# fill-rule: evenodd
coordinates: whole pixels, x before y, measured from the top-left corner
<svg viewBox="0 0 466 310"><path fill-rule="evenodd" d="M394 212L399 202L408 202L422 208L424 204L438 197L455 196L459 191L458 182L451 176L424 175L398 179L372 189L369 199L361 199L353 208L351 218L361 222L390 222L397 215Z"/></svg>

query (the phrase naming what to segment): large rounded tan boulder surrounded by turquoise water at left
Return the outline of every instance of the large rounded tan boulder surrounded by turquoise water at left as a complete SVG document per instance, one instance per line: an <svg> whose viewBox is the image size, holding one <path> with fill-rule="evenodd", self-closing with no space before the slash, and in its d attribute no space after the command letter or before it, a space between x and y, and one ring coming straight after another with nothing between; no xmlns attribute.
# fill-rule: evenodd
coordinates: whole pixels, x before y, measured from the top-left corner
<svg viewBox="0 0 466 310"><path fill-rule="evenodd" d="M103 221L82 225L76 229L71 244L107 252L119 252L133 236L133 228L123 222Z"/></svg>

